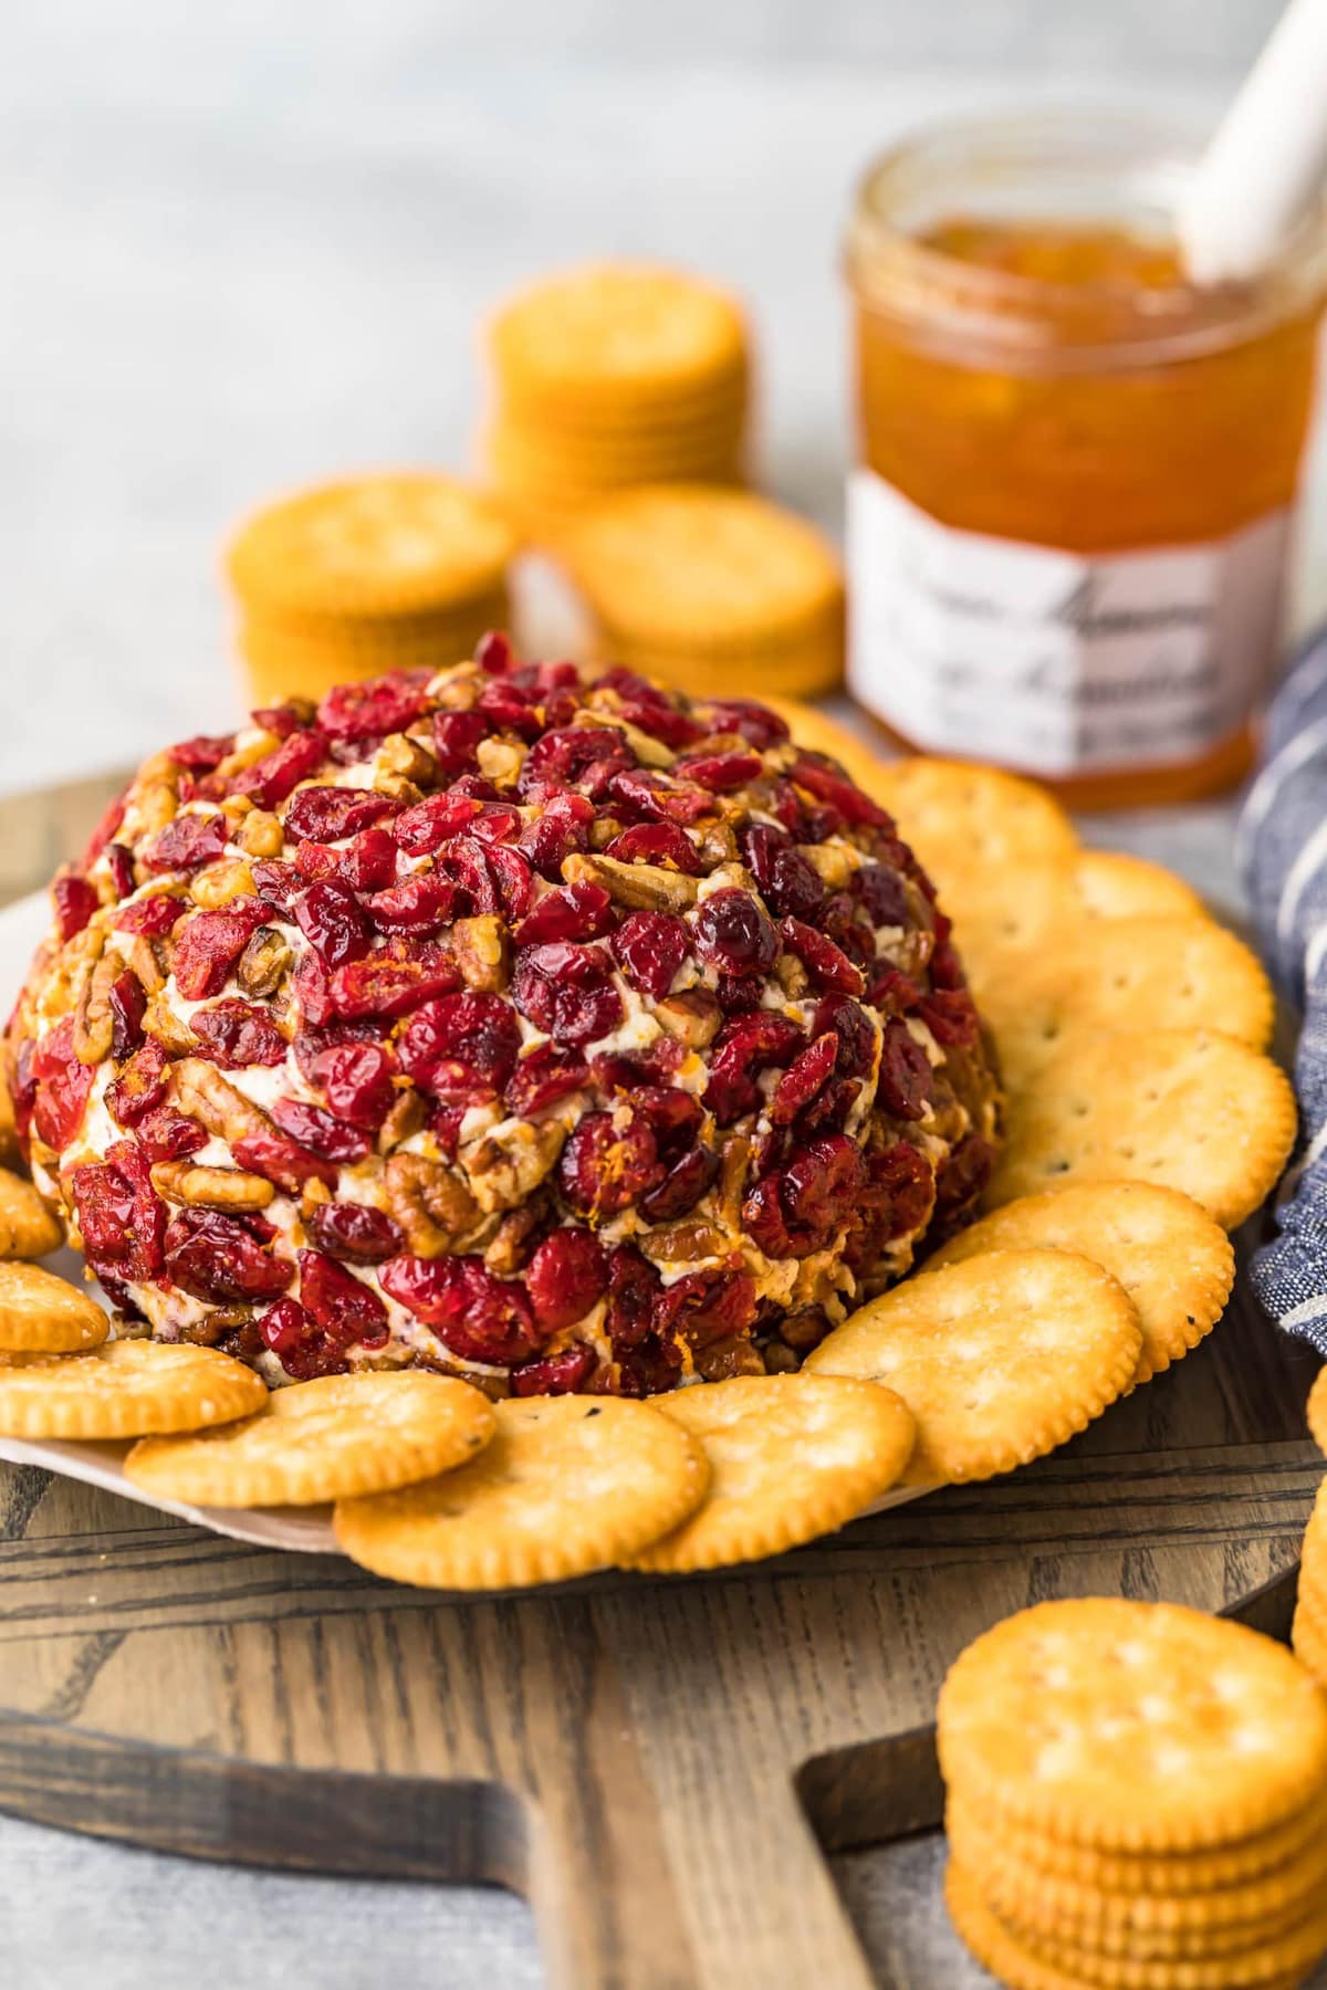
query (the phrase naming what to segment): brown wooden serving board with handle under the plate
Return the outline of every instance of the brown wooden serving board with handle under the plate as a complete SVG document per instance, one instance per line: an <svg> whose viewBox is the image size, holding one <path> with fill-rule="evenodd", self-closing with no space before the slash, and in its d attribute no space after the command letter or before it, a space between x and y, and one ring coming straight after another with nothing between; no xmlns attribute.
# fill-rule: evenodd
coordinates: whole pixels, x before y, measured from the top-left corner
<svg viewBox="0 0 1327 1990"><path fill-rule="evenodd" d="M66 806L95 794L46 804L42 866ZM479 1602L0 1467L0 1809L513 1887L575 1990L865 1986L824 1853L939 1819L935 1692L977 1632L1092 1592L1285 1632L1315 1367L1241 1286L1196 1355L1023 1473L744 1572Z"/></svg>

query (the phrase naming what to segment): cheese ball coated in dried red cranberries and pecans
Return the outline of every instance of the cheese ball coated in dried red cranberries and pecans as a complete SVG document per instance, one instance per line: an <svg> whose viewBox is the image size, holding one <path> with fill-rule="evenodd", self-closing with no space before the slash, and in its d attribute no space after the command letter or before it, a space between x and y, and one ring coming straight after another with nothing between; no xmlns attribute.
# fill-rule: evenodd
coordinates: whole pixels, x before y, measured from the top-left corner
<svg viewBox="0 0 1327 1990"><path fill-rule="evenodd" d="M487 637L157 754L52 897L34 1180L119 1333L271 1385L794 1369L995 1160L931 884L744 698Z"/></svg>

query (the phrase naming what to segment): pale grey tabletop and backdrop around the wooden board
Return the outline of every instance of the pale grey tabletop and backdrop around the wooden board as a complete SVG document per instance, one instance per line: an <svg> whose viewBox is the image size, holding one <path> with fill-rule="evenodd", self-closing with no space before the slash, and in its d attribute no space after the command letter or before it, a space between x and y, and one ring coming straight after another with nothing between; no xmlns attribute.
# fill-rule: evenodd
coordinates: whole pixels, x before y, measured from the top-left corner
<svg viewBox="0 0 1327 1990"><path fill-rule="evenodd" d="M1214 111L1273 0L40 0L0 56L4 792L233 716L215 579L283 484L460 466L475 320L603 253L738 285L762 462L838 521L863 159L989 103ZM1321 482L1321 480L1319 480ZM1315 503L1315 517L1321 499ZM1321 537L1315 525L1309 549ZM1327 599L1309 559L1301 611ZM1132 840L1212 880L1224 818ZM2 1608L2 1602L0 1602ZM933 1843L842 1865L881 1976L963 1990ZM539 1980L519 1902L284 1881L0 1819L12 1990Z"/></svg>

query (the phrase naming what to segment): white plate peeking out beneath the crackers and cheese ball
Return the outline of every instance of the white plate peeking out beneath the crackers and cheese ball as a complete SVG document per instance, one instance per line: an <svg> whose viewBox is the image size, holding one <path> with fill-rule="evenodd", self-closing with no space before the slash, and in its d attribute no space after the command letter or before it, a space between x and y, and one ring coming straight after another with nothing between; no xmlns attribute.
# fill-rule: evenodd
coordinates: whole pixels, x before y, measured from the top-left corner
<svg viewBox="0 0 1327 1990"><path fill-rule="evenodd" d="M0 1015L10 1013L10 1005L28 973L38 943L46 937L50 923L50 899L46 892L22 897L0 911ZM82 1262L76 1252L58 1252L50 1260L52 1270L66 1278L82 1278ZM94 1286L94 1292L97 1288ZM99 1292L97 1292L99 1297ZM99 1487L103 1492L117 1492L139 1506L155 1506L157 1512L193 1520L213 1534L231 1540L249 1540L259 1548L286 1548L292 1554L340 1554L332 1536L332 1522L324 1506L185 1506L183 1500L153 1498L131 1485L123 1473L127 1445L62 1445L62 1443L20 1443L16 1437L0 1437L0 1459L10 1465L40 1465L48 1473L64 1473L66 1479L82 1479L84 1485ZM885 1506L901 1506L919 1498L925 1487L899 1487L871 1506L883 1512Z"/></svg>

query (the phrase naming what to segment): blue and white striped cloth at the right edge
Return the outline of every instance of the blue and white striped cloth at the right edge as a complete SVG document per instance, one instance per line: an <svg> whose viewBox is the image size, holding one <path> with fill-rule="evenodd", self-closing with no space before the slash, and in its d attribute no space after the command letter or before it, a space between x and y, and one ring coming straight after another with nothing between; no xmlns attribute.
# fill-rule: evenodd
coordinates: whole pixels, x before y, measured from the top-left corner
<svg viewBox="0 0 1327 1990"><path fill-rule="evenodd" d="M1303 1146L1281 1184L1279 1236L1251 1274L1271 1317L1327 1357L1327 629L1291 663L1267 714L1265 752L1237 856L1263 959L1303 1013Z"/></svg>

